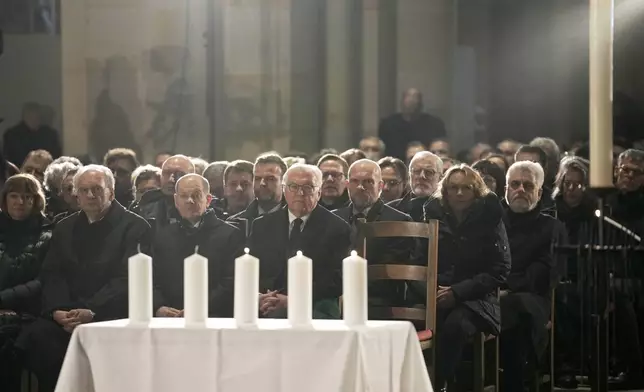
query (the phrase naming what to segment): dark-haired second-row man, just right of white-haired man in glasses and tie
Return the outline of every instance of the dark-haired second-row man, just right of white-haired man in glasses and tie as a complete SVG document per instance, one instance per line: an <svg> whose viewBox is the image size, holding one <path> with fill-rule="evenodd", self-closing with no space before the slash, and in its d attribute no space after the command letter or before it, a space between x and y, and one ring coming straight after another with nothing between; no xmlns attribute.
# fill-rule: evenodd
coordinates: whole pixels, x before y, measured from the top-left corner
<svg viewBox="0 0 644 392"><path fill-rule="evenodd" d="M322 171L322 198L320 205L329 211L346 207L349 204L347 194L347 171L349 165L344 158L336 154L326 154L318 160Z"/></svg>

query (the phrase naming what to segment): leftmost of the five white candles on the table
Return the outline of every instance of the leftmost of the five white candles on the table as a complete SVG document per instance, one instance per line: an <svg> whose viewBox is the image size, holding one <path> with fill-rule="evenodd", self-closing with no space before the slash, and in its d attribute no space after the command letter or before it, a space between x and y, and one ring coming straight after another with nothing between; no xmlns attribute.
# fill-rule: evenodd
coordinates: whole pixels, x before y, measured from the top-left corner
<svg viewBox="0 0 644 392"><path fill-rule="evenodd" d="M131 323L152 319L152 258L139 253L128 259L128 312Z"/></svg>

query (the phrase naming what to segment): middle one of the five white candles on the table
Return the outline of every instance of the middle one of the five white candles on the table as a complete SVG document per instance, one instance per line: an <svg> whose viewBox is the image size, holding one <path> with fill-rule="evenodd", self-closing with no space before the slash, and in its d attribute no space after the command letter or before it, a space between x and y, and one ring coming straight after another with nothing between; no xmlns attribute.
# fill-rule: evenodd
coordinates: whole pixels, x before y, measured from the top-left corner
<svg viewBox="0 0 644 392"><path fill-rule="evenodd" d="M259 259L248 248L235 260L235 321L237 325L255 324L259 303Z"/></svg>

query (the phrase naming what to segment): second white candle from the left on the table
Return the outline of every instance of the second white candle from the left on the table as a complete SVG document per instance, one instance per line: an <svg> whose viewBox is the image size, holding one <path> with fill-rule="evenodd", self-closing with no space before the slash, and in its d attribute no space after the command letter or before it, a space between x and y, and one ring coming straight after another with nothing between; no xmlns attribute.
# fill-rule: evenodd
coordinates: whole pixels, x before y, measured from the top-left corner
<svg viewBox="0 0 644 392"><path fill-rule="evenodd" d="M205 325L208 319L208 259L198 253L184 260L183 297L186 325Z"/></svg>

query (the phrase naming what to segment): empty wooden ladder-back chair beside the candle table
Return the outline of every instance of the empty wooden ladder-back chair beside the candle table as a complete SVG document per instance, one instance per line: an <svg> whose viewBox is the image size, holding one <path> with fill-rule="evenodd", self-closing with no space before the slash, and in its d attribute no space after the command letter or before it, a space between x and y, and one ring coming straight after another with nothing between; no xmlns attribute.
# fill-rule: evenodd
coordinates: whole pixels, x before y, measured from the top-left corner
<svg viewBox="0 0 644 392"><path fill-rule="evenodd" d="M409 260L396 260L395 264L377 264L368 267L369 280L403 280L427 283L426 306L422 307L370 307L370 317L407 320L422 323L418 340L423 351L429 350L430 378L434 379L435 348L432 344L436 334L436 292L438 289L438 221L417 222L371 222L358 220L358 239L362 249L358 254L366 259L367 240L374 238L424 238L427 239L427 265L409 265ZM417 324L415 324L417 325Z"/></svg>

